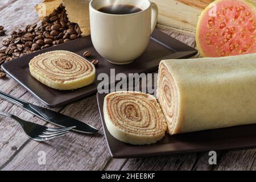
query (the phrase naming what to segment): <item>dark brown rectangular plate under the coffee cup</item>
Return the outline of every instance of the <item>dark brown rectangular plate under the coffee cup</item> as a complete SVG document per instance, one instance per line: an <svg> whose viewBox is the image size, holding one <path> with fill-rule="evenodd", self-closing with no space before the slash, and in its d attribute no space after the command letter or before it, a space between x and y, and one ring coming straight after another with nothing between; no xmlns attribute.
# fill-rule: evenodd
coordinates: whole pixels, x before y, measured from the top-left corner
<svg viewBox="0 0 256 182"><path fill-rule="evenodd" d="M108 46L106 43L105 46ZM100 61L96 69L96 79L99 73L106 73L110 75L110 69L115 69L117 73L150 73L158 69L158 65L163 59L181 59L196 55L196 49L179 42L174 38L164 34L156 29L152 34L150 45L144 54L128 65L114 65L108 63L101 57L93 47L90 36L81 39L76 39L68 43L60 44L59 46L43 49L42 51L31 53L30 55L22 56L19 59L10 61L2 65L2 69L14 80L18 81L20 85L31 92L44 105L49 107L57 107L79 101L82 98L89 97L97 93L97 85L99 81L94 81L93 84L85 86L77 90L61 91L49 88L35 80L30 75L28 63L33 57L48 51L66 50L75 52L82 56L84 51L91 51L92 57L88 59L92 61L97 59ZM132 52L131 52L132 53Z"/></svg>

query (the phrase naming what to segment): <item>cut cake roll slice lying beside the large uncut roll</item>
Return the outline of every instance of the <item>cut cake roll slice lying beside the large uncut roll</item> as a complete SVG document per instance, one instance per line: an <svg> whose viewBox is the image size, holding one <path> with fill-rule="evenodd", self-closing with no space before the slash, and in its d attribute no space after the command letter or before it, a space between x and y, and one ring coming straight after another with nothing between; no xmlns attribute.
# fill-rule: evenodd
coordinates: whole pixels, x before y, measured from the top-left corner
<svg viewBox="0 0 256 182"><path fill-rule="evenodd" d="M104 119L109 133L130 144L162 139L167 125L156 98L140 92L115 92L105 97Z"/></svg>

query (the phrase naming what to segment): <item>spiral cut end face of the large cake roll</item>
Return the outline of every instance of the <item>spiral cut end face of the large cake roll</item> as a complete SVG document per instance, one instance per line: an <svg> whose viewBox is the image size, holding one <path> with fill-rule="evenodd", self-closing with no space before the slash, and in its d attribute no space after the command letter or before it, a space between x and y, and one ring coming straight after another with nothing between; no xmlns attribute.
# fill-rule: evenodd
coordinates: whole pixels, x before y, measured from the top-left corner
<svg viewBox="0 0 256 182"><path fill-rule="evenodd" d="M158 76L158 102L166 117L168 133L172 134L178 114L178 92L177 86L171 72L163 63L159 66Z"/></svg>

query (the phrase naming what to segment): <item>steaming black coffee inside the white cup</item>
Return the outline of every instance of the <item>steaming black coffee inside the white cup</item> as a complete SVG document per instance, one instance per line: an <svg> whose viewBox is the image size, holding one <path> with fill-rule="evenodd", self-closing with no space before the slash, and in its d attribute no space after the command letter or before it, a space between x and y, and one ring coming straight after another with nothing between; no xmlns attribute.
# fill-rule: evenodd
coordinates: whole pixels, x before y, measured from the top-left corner
<svg viewBox="0 0 256 182"><path fill-rule="evenodd" d="M114 15L126 15L138 13L139 11L142 11L142 9L133 5L109 5L101 7L98 11Z"/></svg>

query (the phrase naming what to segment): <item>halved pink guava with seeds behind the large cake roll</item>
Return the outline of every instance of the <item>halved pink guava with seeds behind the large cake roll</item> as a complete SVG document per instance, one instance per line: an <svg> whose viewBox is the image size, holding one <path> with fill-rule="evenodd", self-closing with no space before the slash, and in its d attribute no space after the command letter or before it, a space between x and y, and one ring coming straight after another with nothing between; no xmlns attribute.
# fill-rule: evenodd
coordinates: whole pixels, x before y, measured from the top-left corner
<svg viewBox="0 0 256 182"><path fill-rule="evenodd" d="M256 52L256 6L245 0L217 0L201 13L196 44L201 56Z"/></svg>

